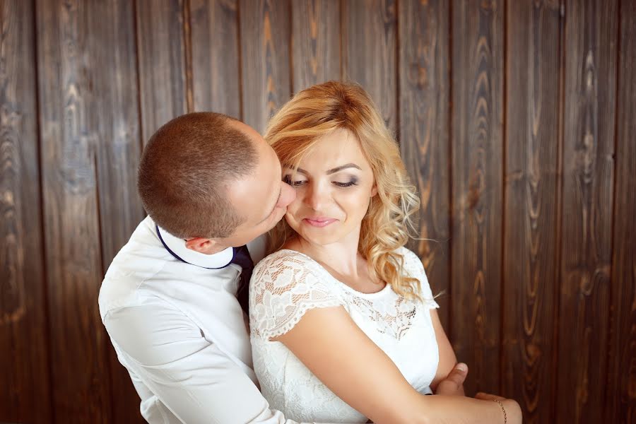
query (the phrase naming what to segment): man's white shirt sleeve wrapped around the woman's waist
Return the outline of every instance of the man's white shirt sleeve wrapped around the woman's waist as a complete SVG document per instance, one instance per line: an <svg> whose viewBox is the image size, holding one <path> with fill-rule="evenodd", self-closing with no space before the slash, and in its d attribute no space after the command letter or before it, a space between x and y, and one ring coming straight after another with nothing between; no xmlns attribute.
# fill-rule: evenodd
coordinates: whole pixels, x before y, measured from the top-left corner
<svg viewBox="0 0 636 424"><path fill-rule="evenodd" d="M271 411L241 368L170 303L156 299L119 308L105 315L104 324L130 371L179 421L297 424Z"/></svg>

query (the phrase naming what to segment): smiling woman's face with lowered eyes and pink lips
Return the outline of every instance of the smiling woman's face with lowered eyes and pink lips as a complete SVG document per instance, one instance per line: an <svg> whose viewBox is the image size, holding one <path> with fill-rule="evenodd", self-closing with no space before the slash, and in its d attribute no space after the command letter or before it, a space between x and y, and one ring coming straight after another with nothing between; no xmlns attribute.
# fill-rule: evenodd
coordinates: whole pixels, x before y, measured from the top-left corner
<svg viewBox="0 0 636 424"><path fill-rule="evenodd" d="M300 237L315 245L360 237L369 202L377 190L373 172L355 136L338 129L320 138L298 165L283 169L296 191L285 219Z"/></svg>

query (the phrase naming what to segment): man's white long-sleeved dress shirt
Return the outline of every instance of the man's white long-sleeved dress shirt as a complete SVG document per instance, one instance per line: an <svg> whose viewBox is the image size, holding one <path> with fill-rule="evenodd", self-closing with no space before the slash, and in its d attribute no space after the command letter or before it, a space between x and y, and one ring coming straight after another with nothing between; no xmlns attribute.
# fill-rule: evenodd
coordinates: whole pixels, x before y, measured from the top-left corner
<svg viewBox="0 0 636 424"><path fill-rule="evenodd" d="M263 238L248 249L256 264ZM232 248L213 255L187 249L150 217L113 259L100 314L148 423L295 423L271 411L257 388L235 297L241 268L228 266L231 259Z"/></svg>

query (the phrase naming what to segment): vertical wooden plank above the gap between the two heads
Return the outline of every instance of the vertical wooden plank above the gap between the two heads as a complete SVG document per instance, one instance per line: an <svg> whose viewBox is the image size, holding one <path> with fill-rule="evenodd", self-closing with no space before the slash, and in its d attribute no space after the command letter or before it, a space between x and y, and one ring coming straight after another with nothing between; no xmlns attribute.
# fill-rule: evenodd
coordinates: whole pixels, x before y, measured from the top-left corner
<svg viewBox="0 0 636 424"><path fill-rule="evenodd" d="M241 0L243 122L261 134L291 96L290 3Z"/></svg>

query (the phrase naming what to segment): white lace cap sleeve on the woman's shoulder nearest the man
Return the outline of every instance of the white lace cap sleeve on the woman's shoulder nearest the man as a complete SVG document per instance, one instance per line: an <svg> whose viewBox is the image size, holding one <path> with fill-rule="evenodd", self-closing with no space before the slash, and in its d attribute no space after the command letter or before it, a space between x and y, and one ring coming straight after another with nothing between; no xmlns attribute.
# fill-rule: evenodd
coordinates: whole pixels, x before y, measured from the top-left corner
<svg viewBox="0 0 636 424"><path fill-rule="evenodd" d="M254 337L281 336L307 310L338 305L342 305L338 296L317 278L317 264L289 250L261 261L249 284L249 324Z"/></svg>

